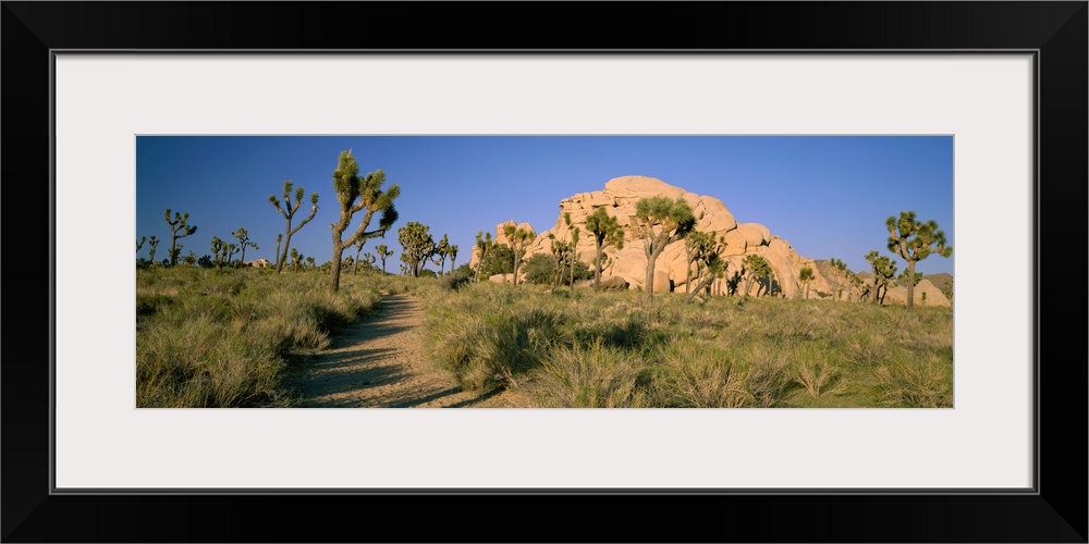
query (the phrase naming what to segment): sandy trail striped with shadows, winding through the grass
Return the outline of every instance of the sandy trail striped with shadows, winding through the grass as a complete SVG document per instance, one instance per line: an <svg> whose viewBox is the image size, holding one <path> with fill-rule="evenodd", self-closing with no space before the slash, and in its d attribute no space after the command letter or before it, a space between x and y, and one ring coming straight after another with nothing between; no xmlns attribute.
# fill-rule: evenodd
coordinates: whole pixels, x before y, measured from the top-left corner
<svg viewBox="0 0 1089 544"><path fill-rule="evenodd" d="M302 406L315 408L445 408L480 400L450 372L432 367L423 347L424 309L407 295L383 297L377 311L308 356L296 378Z"/></svg>

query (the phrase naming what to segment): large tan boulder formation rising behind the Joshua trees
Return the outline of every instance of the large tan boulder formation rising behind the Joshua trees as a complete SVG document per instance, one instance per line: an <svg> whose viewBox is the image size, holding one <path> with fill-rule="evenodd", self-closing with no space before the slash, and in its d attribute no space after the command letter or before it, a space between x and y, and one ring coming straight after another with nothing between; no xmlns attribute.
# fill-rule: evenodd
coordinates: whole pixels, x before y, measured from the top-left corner
<svg viewBox="0 0 1089 544"><path fill-rule="evenodd" d="M763 257L774 271L772 295L787 298L802 296L802 285L798 283L798 272L803 267L813 269L815 280L809 285L810 298L817 298L817 292L835 293L832 284L821 273L812 259L797 254L791 244L771 233L759 223L738 223L726 206L718 198L688 193L680 187L669 185L661 180L646 176L623 176L610 180L603 190L580 193L560 201L560 214L555 225L548 231L538 233L537 238L526 250L526 258L536 254L551 255L549 233L561 240L570 240L571 235L564 222L564 213L571 214L572 224L583 233L579 236L576 250L579 260L592 267L595 257L594 237L587 234L586 217L598 208L605 208L609 215L616 218L624 230L624 248L608 248L609 264L603 270L603 279L620 277L627 282L629 288L646 288L647 257L644 252L645 238L638 221L635 219L636 202L645 197L665 196L683 198L692 206L696 215L696 230L713 233L715 237L724 236L726 248L723 256L729 261L726 279L742 269L742 261L748 255ZM503 226L513 221L495 226L495 240L505 243ZM519 225L529 226L529 225ZM470 265L476 267L478 255L473 251ZM658 258L654 270L654 282L651 288L656 292L684 290L688 281L684 242L669 245ZM757 286L752 286L755 294ZM712 293L726 293L725 279L715 280L711 285ZM928 302L929 302L928 295Z"/></svg>

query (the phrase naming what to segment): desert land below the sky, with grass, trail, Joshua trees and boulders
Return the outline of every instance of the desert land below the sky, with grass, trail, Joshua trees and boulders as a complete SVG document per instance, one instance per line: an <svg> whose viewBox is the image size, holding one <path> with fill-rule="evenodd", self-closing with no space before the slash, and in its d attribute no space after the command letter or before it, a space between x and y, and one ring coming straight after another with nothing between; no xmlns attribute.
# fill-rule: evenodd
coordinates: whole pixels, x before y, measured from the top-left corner
<svg viewBox="0 0 1089 544"><path fill-rule="evenodd" d="M913 209L815 258L725 196L620 175L440 236L409 184L325 162L334 198L270 190L271 259L256 226L183 252L205 234L169 207L138 237L137 407L953 406L953 276L917 270L951 237ZM321 260L297 242L319 209Z"/></svg>

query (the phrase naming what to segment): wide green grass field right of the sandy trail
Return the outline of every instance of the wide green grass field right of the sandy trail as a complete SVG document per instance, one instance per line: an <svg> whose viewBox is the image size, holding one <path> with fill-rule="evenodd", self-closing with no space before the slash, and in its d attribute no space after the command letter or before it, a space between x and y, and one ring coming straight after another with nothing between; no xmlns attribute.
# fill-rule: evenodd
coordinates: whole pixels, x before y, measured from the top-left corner
<svg viewBox="0 0 1089 544"><path fill-rule="evenodd" d="M481 283L431 299L433 361L530 407L950 407L953 313Z"/></svg>

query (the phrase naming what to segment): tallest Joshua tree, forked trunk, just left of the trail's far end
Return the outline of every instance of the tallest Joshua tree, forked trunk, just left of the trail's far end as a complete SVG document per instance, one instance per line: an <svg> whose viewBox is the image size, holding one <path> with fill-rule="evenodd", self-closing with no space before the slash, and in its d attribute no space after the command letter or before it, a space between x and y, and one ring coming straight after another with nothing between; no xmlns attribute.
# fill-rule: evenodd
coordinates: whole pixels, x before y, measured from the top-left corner
<svg viewBox="0 0 1089 544"><path fill-rule="evenodd" d="M397 221L397 210L393 207L393 201L401 195L401 186L394 184L382 190L384 183L386 172L381 170L360 177L359 163L352 157L352 151L341 151L337 170L333 171L333 188L337 189L337 199L340 200L341 217L340 221L329 225L333 231L333 269L330 279L333 292L340 290L340 265L344 248L353 246L360 239L384 237L386 232ZM352 217L360 211L363 222L359 223L359 227L347 239L343 239ZM379 212L381 219L378 221L378 228L367 231L370 221Z"/></svg>

